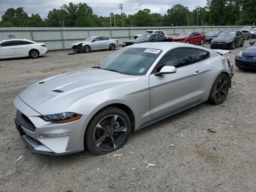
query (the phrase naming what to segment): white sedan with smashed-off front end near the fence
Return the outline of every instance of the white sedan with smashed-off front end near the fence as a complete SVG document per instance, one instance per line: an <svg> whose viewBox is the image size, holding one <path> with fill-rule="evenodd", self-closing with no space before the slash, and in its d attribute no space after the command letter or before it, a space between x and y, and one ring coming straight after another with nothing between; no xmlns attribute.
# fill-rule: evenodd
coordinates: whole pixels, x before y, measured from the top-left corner
<svg viewBox="0 0 256 192"><path fill-rule="evenodd" d="M84 41L75 42L72 44L74 52L88 53L91 50L109 49L115 50L118 47L118 40L106 36L92 36Z"/></svg>

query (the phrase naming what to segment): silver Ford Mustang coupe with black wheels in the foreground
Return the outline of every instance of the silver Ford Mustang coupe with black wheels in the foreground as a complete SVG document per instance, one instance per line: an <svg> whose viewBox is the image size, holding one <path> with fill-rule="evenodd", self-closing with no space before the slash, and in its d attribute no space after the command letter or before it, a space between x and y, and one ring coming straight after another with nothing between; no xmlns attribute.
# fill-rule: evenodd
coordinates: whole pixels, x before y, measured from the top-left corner
<svg viewBox="0 0 256 192"><path fill-rule="evenodd" d="M139 130L209 101L221 104L233 76L230 59L182 43L142 43L97 67L46 78L14 99L15 123L34 153L84 149L106 154Z"/></svg>

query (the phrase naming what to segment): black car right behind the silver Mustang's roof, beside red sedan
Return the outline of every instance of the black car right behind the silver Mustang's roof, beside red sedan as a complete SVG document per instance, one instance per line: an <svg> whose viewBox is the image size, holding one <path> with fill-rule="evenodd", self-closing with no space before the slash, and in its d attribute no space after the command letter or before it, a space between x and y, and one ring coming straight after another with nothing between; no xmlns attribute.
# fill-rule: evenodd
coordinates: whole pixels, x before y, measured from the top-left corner
<svg viewBox="0 0 256 192"><path fill-rule="evenodd" d="M142 34L137 39L123 42L123 47L144 42L172 42L172 38L166 37L162 34L152 33L152 34Z"/></svg>

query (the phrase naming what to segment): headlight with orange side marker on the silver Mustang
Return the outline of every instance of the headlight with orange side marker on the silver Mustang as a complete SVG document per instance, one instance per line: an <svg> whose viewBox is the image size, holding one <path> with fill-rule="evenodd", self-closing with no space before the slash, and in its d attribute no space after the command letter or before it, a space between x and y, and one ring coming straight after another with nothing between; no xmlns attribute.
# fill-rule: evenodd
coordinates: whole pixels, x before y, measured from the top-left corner
<svg viewBox="0 0 256 192"><path fill-rule="evenodd" d="M72 112L40 116L40 118L42 118L45 121L52 121L52 122L59 122L59 123L71 122L74 120L78 120L81 117L82 115L77 113L72 113Z"/></svg>

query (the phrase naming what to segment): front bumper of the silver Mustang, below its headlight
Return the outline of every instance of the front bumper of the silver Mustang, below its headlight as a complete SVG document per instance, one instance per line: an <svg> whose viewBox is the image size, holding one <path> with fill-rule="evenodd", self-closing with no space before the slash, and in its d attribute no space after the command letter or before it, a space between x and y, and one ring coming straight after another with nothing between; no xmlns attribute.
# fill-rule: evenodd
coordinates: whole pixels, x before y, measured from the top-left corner
<svg viewBox="0 0 256 192"><path fill-rule="evenodd" d="M68 123L46 122L39 113L26 105L19 96L14 99L17 113L16 128L32 153L64 155L84 150L84 133L89 122L88 116ZM69 133L67 136L58 134ZM57 136L44 137L43 134Z"/></svg>

